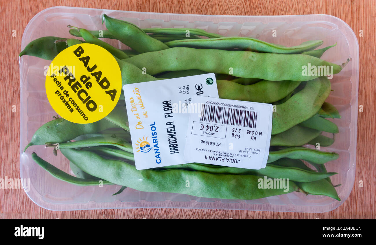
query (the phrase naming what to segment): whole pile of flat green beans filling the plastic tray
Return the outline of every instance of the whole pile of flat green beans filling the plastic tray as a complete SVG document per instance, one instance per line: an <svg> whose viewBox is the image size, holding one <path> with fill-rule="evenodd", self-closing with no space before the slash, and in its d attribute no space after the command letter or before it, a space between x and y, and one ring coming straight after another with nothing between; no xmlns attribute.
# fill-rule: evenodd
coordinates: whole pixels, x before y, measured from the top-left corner
<svg viewBox="0 0 376 245"><path fill-rule="evenodd" d="M76 124L56 118L36 130L25 150L33 145L46 145L47 149L53 148L55 154L60 151L69 160L75 175L61 171L32 153L32 159L54 177L80 186L121 185L114 195L133 188L250 200L296 191L340 201L335 190L338 185L334 186L330 179L337 173L327 172L324 166L339 155L316 150L312 145L334 144L334 137L327 137L323 132L338 133L334 121L341 116L335 106L325 101L331 92L330 80L326 76L302 74L302 66L308 64L332 66L333 74L339 73L346 63L337 65L320 59L336 44L315 49L323 41L308 40L285 47L249 37L224 37L202 29L142 29L105 14L102 24L108 30L68 26L71 35L83 40L38 38L26 45L20 56L53 60L72 45L96 44L117 60L123 85L215 73L220 98L274 105L267 166L255 170L187 163L137 170L121 98L115 109L100 121ZM101 38L118 39L129 48L120 50ZM143 73L143 68L147 74ZM258 188L258 180L263 177L286 178L289 187L287 190Z"/></svg>

